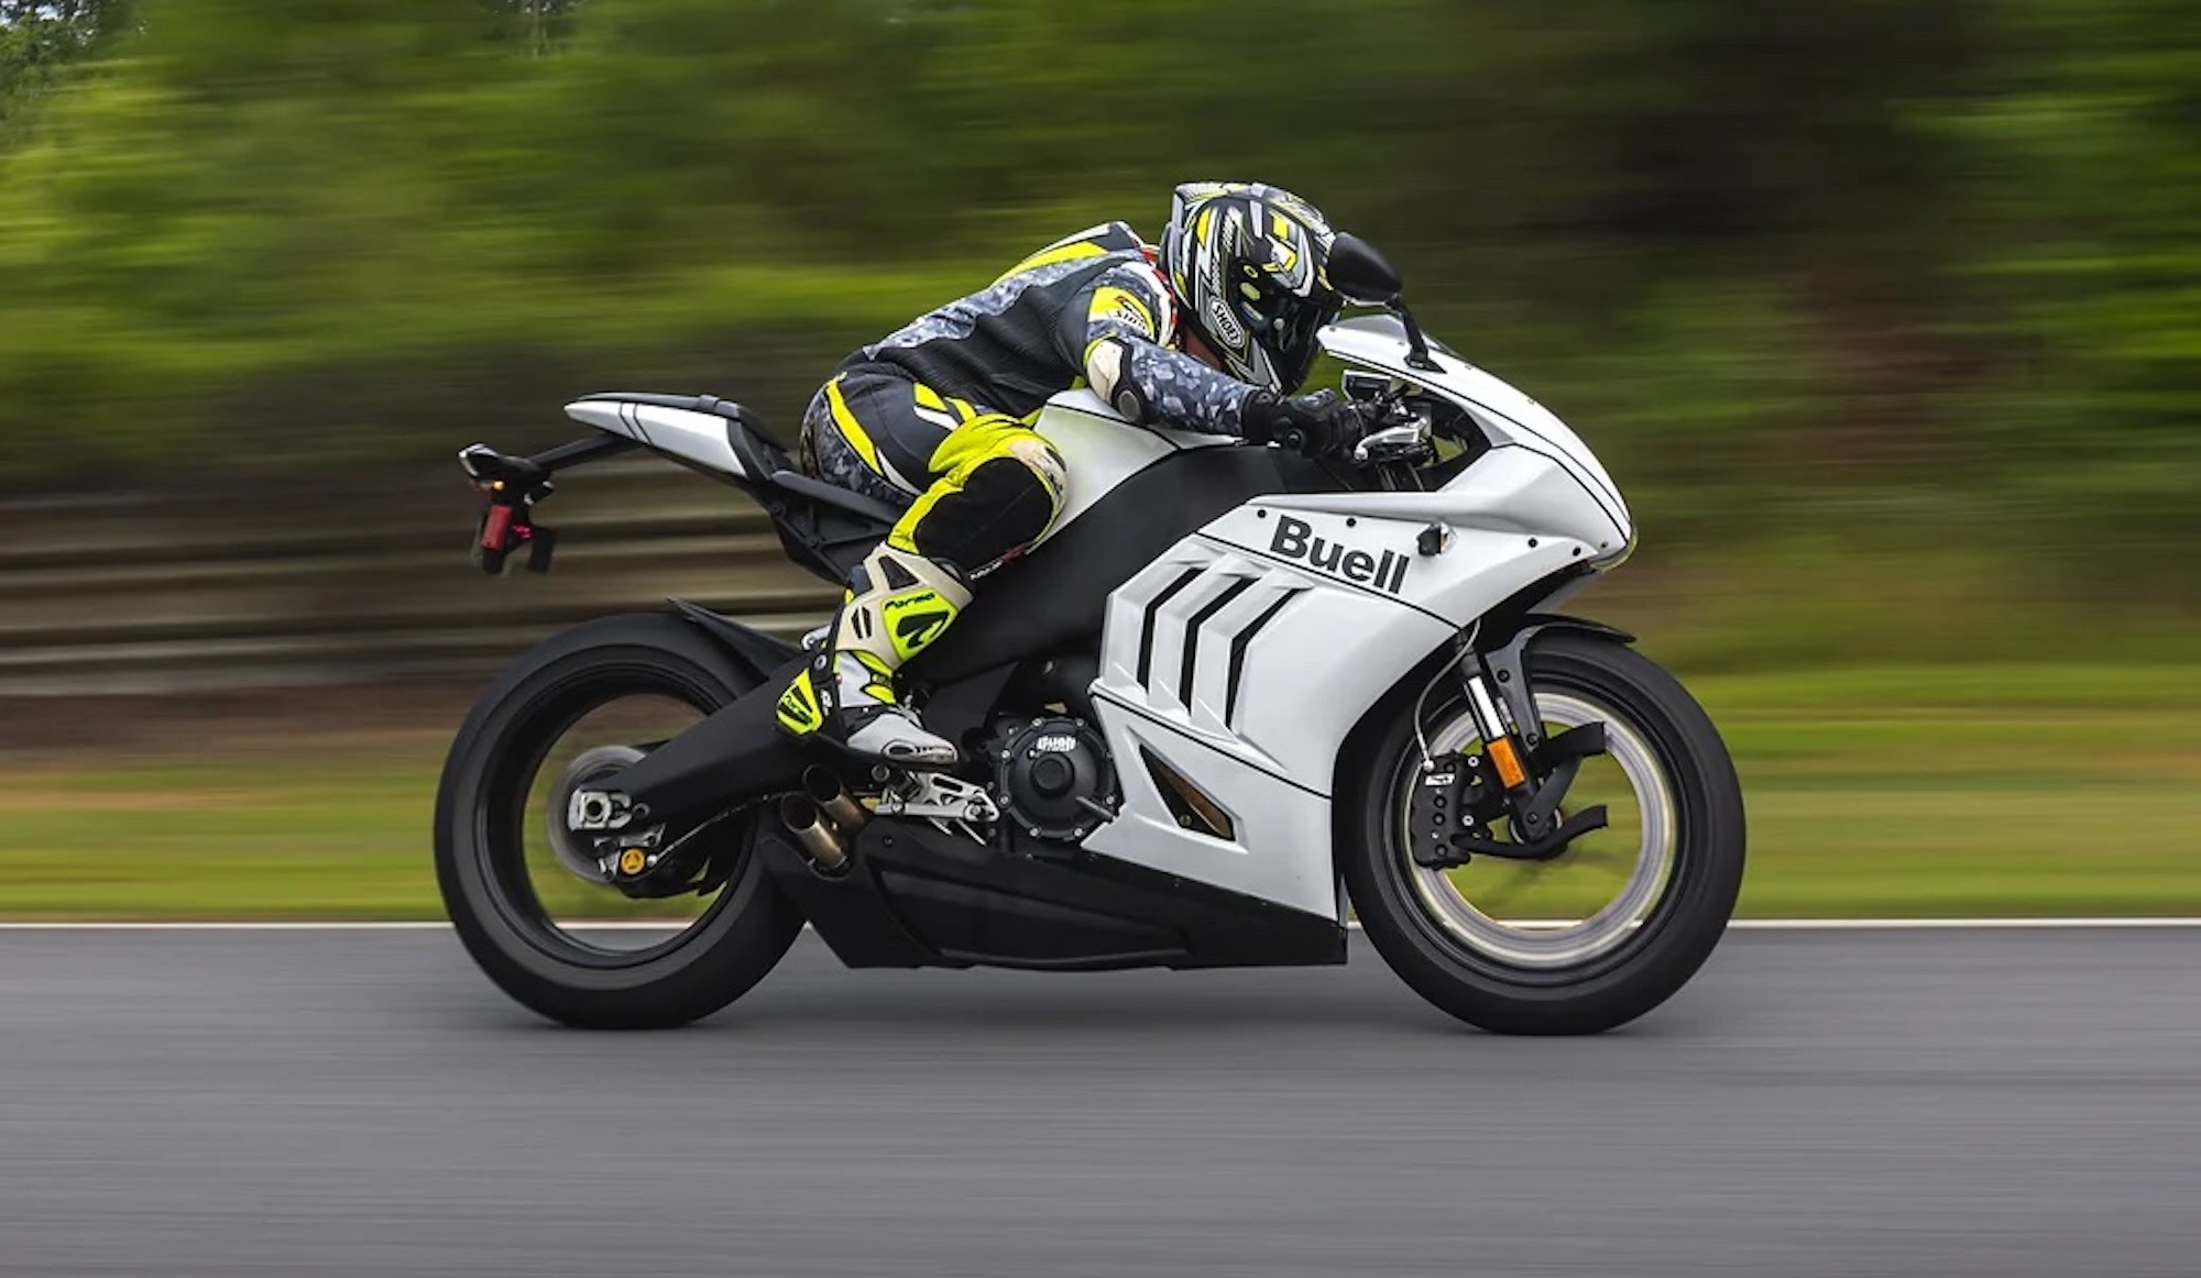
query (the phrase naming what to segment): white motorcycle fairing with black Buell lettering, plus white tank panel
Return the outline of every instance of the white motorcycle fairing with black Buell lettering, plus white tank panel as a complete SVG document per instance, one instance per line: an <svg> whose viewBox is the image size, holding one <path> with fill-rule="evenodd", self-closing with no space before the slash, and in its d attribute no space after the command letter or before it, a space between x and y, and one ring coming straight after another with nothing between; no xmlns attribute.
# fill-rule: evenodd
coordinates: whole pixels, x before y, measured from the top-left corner
<svg viewBox="0 0 2201 1278"><path fill-rule="evenodd" d="M1094 688L1109 750L1164 761L1233 834L1184 829L1151 770L1118 768L1123 812L1085 847L1343 917L1329 803L1345 737L1501 601L1618 563L1633 524L1580 438L1499 378L1444 352L1437 372L1406 367L1387 319L1329 328L1323 350L1453 400L1492 449L1435 491L1259 497L1120 587ZM1065 524L1160 455L1228 442L1127 431L1089 392L1059 396L1039 431L1072 475Z"/></svg>

